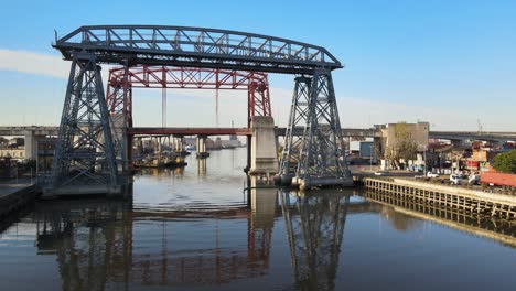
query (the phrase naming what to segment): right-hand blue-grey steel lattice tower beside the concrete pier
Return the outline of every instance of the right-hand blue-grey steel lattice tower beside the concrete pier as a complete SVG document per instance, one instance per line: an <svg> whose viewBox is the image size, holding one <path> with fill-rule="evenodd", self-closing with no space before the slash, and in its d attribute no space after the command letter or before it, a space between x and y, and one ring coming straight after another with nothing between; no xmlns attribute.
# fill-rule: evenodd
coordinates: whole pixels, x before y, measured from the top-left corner
<svg viewBox="0 0 516 291"><path fill-rule="evenodd" d="M297 137L295 129L301 125L303 134ZM301 188L353 183L345 163L341 121L329 69L316 69L310 77L295 78L279 181Z"/></svg>

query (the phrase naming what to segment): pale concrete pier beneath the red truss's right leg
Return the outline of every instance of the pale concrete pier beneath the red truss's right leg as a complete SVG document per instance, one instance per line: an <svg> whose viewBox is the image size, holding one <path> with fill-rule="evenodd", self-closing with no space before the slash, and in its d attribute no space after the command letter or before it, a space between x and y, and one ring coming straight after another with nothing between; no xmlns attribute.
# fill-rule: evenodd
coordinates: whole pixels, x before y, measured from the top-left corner
<svg viewBox="0 0 516 291"><path fill-rule="evenodd" d="M278 173L278 141L275 134L275 120L268 116L255 116L251 120L250 138L251 175L273 175Z"/></svg>

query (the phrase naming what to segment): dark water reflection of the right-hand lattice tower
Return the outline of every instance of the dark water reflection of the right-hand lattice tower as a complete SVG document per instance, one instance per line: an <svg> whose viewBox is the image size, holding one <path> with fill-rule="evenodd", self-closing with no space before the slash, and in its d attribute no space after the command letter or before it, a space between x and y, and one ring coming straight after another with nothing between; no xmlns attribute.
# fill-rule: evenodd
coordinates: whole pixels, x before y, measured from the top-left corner
<svg viewBox="0 0 516 291"><path fill-rule="evenodd" d="M340 192L281 193L294 288L334 290L350 196ZM299 215L293 215L293 209Z"/></svg>

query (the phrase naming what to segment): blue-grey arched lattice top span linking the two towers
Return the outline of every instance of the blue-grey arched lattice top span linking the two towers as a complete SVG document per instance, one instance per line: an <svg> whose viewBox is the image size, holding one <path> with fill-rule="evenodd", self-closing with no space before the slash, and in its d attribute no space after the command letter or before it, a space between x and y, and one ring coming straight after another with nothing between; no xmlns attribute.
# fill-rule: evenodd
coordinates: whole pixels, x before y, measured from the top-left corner
<svg viewBox="0 0 516 291"><path fill-rule="evenodd" d="M254 72L312 74L342 67L326 48L302 42L227 30L160 26L80 26L56 40L65 60L88 51L97 62L228 68Z"/></svg>

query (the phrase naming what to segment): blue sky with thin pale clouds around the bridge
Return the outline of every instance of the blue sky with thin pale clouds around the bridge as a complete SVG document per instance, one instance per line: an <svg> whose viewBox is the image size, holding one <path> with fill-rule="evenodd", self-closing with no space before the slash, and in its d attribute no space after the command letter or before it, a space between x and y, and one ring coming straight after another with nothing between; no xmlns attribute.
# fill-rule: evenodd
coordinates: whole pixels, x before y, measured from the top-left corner
<svg viewBox="0 0 516 291"><path fill-rule="evenodd" d="M480 119L484 130L516 131L516 1L49 2L2 3L0 125L57 123L68 64L51 47L54 30L64 35L86 24L170 24L325 46L346 66L334 72L344 127L428 120L438 130L476 130ZM287 122L292 79L270 76L279 125ZM137 125L160 125L160 96L136 97ZM244 126L245 96L221 96L221 125ZM170 91L168 123L212 125L212 97Z"/></svg>

